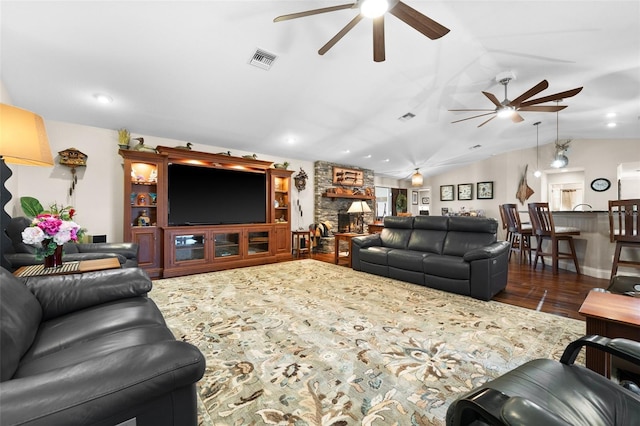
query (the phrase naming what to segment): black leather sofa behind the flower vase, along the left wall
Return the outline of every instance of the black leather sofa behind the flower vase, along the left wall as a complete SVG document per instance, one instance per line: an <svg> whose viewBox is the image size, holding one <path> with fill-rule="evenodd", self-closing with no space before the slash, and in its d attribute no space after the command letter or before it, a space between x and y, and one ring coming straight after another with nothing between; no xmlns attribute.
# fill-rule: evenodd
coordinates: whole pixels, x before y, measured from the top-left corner
<svg viewBox="0 0 640 426"><path fill-rule="evenodd" d="M26 217L11 218L5 233L11 240L11 247L4 257L10 263L11 270L21 266L37 265L42 259L36 259L36 248L22 242L22 231L31 220ZM138 244L136 243L66 243L63 248L63 262L105 259L115 257L122 268L138 266Z"/></svg>

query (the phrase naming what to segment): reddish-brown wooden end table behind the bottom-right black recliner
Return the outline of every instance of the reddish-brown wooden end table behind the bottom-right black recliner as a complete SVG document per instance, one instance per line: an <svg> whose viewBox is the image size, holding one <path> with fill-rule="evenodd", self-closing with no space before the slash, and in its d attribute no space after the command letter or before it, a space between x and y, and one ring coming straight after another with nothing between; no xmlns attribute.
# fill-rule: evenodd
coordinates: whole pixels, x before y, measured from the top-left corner
<svg viewBox="0 0 640 426"><path fill-rule="evenodd" d="M578 310L587 319L587 334L640 341L640 299L621 294L590 291ZM587 367L611 377L611 357L586 348Z"/></svg>

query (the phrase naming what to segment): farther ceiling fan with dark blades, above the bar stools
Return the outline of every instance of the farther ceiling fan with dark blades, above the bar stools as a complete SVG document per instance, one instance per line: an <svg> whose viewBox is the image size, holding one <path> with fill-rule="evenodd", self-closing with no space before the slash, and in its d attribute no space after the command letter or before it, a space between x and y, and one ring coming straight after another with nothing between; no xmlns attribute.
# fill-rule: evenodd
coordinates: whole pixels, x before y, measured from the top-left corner
<svg viewBox="0 0 640 426"><path fill-rule="evenodd" d="M513 77L504 77L497 78L498 83L504 86L504 100L500 102L498 98L495 97L493 93L482 92L489 100L495 105L494 109L450 109L449 111L489 111L484 114L474 115L473 117L463 118L462 120L452 121L452 123L459 123L465 120L471 120L472 118L484 117L486 115L493 115L493 117L488 120L482 122L478 127L482 127L487 124L489 121L493 120L496 117L510 117L511 121L514 123L519 123L524 121L524 118L518 112L520 111L533 111L533 112L558 112L567 107L567 105L538 105L545 102L551 101L561 101L564 98L570 98L572 96L577 95L582 90L582 87L578 87L576 89L567 90L565 92L555 93L553 95L544 96L542 98L531 99L532 96L537 95L538 93L545 90L549 87L549 82L547 80L542 80L540 83L533 86L531 89L524 92L522 95L518 96L514 100L510 101L507 96L507 85L513 79Z"/></svg>

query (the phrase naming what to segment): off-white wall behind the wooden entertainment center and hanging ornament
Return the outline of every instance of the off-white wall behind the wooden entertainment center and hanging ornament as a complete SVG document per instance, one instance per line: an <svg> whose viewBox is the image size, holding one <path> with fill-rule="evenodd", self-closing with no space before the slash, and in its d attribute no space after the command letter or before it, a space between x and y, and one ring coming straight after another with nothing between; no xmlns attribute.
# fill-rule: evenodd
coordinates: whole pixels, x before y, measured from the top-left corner
<svg viewBox="0 0 640 426"><path fill-rule="evenodd" d="M56 165L53 167L30 167L10 164L13 176L7 188L13 198L7 204L6 211L10 216L23 215L19 198L32 196L40 200L43 206L51 203L72 205L77 210L76 221L87 228L90 235L107 235L107 241L122 240L123 212L123 166L122 157L118 155L117 131L97 127L82 126L47 120L45 126L49 136L49 144ZM186 142L174 139L159 138L149 135L132 134L132 137L144 137L148 146L184 146ZM57 164L57 153L67 148L76 148L87 154L87 167L77 168L78 184L73 196L69 196L71 170ZM193 150L204 152L222 152L231 149L234 156L253 154L228 147L215 147L194 144ZM271 157L256 153L258 159L274 163L290 163L289 170L298 173L302 167L307 175L307 188L301 192L292 191L291 203L300 200L304 216L299 219L295 209L292 210L291 226L306 227L313 222L313 163L285 157Z"/></svg>

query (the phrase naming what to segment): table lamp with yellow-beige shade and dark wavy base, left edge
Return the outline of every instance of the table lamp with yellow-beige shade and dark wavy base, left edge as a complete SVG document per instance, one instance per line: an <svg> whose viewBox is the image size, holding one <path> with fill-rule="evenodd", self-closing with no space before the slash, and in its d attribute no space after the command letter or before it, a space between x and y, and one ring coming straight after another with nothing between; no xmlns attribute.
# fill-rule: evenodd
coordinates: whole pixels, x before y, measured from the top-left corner
<svg viewBox="0 0 640 426"><path fill-rule="evenodd" d="M0 103L0 260L2 267L9 269L4 258L11 240L4 230L11 217L5 206L11 200L6 188L12 175L7 163L27 166L53 166L49 139L42 117L30 111Z"/></svg>

